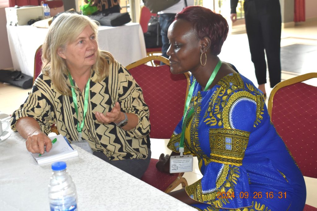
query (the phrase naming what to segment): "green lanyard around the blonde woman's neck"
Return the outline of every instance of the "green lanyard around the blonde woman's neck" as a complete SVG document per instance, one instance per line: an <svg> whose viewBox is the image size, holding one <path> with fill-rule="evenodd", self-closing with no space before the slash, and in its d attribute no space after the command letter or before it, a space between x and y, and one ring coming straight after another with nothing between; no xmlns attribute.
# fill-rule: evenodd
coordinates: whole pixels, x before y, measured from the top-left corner
<svg viewBox="0 0 317 211"><path fill-rule="evenodd" d="M73 95L73 102L74 102L75 112L77 115L78 141L80 141L81 140L81 131L82 131L82 128L84 127L84 124L85 124L85 117L86 117L87 109L88 109L88 95L89 95L88 92L89 92L90 78L88 79L87 84L86 84L86 88L85 88L84 115L83 115L81 124L79 124L79 120L78 120L77 97L76 97L76 93L75 93L75 89L74 89L73 78L69 72L68 72L68 78L69 78L70 84L72 85L71 89L72 89L72 95Z"/></svg>

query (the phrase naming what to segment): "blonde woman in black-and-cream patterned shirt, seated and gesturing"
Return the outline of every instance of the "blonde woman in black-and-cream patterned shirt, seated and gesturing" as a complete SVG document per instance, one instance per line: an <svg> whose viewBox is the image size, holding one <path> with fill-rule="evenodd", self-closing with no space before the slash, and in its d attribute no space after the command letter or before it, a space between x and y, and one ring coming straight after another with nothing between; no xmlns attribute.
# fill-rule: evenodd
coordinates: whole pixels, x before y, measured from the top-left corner
<svg viewBox="0 0 317 211"><path fill-rule="evenodd" d="M86 141L94 155L142 177L151 158L149 110L129 72L97 44L98 25L65 12L49 28L43 44L42 74L11 128L32 153L52 148L47 134L55 122L69 141ZM88 145L87 144L87 145Z"/></svg>

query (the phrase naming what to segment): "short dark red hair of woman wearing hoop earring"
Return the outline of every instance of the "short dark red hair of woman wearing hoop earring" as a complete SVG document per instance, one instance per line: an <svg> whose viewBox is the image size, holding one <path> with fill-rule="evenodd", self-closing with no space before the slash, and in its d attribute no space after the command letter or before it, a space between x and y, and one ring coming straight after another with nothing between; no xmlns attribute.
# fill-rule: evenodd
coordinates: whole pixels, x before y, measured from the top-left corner
<svg viewBox="0 0 317 211"><path fill-rule="evenodd" d="M189 6L176 14L177 19L191 22L199 39L209 37L212 54L217 56L221 52L229 31L228 22L222 15L201 6Z"/></svg>

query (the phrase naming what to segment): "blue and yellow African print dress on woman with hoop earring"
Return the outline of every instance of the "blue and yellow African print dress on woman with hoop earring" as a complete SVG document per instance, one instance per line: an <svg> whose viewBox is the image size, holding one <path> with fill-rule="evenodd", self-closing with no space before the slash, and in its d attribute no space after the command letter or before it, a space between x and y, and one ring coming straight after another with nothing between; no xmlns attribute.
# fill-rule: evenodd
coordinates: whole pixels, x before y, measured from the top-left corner
<svg viewBox="0 0 317 211"><path fill-rule="evenodd" d="M191 81L193 78L191 78ZM184 154L197 156L203 177L187 186L198 210L302 211L301 171L270 122L262 96L239 73L207 91L195 83L185 122ZM168 147L178 152L183 121Z"/></svg>

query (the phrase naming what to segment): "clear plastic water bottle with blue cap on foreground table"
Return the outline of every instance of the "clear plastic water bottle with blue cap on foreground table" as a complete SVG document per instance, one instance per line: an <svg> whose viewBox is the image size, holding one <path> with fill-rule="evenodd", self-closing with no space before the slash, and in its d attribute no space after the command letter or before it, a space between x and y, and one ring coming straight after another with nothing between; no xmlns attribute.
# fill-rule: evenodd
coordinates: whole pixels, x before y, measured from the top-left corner
<svg viewBox="0 0 317 211"><path fill-rule="evenodd" d="M49 206L51 211L77 211L77 193L72 177L66 171L64 161L52 164L49 182Z"/></svg>

